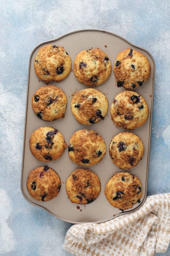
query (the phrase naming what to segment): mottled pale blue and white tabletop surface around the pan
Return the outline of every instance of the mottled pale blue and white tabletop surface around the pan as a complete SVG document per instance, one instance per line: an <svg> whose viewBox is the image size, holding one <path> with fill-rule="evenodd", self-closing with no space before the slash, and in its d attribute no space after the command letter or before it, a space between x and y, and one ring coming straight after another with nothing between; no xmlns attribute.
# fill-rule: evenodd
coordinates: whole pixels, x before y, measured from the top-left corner
<svg viewBox="0 0 170 256"><path fill-rule="evenodd" d="M40 42L82 28L109 30L147 49L156 64L147 194L169 192L169 1L1 1L0 254L72 255L71 224L29 204L20 189L29 56ZM167 253L156 255L170 255Z"/></svg>

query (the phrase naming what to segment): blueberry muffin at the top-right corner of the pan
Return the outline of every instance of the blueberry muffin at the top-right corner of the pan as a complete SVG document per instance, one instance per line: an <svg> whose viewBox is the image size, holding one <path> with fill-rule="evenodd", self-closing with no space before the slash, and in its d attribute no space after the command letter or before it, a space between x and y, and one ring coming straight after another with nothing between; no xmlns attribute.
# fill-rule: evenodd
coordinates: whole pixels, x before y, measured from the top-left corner
<svg viewBox="0 0 170 256"><path fill-rule="evenodd" d="M132 90L148 80L150 71L147 57L133 49L121 51L117 55L113 68L117 87L123 86Z"/></svg>

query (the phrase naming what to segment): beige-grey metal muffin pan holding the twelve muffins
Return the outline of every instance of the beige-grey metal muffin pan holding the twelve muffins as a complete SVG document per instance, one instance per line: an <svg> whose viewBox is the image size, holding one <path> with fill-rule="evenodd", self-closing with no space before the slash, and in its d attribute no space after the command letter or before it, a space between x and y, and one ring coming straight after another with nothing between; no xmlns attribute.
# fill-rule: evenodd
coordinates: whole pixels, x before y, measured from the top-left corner
<svg viewBox="0 0 170 256"><path fill-rule="evenodd" d="M66 77L61 82L49 82L62 89L67 96L67 109L65 113L64 119L58 119L53 122L43 121L39 119L33 112L32 109L32 97L36 90L45 85L45 83L38 79L34 70L34 58L38 52L38 50L48 44L63 46L67 49L68 54L72 60L72 69L73 62L80 51L84 49L90 49L91 47L97 48L99 47L101 50L106 52L108 55L111 64L112 64L112 72L109 78L102 84L91 87L94 89L100 90L102 93L105 93L109 108L108 112L105 116L104 120L100 120L98 123L93 125L83 125L76 121L72 112L71 112L71 100L72 95L76 91L80 91L82 89L90 88L85 84L80 83L76 77L74 76L74 72L70 72L68 77ZM107 45L107 47L105 47ZM145 124L140 126L139 128L133 130L132 132L139 136L142 140L145 153L142 160L139 164L130 169L130 170L122 170L116 167L110 158L109 155L109 144L112 138L123 131L123 128L117 128L113 121L111 120L110 107L114 98L121 91L126 90L121 87L118 88L115 86L116 81L113 73L113 64L116 60L117 54L126 49L132 48L137 49L142 52L149 60L151 66L151 73L149 79L141 86L134 91L138 92L142 95L142 97L146 100L149 107L149 116L148 120ZM110 219L115 218L116 216L120 216L122 214L126 214L127 212L132 212L137 210L145 201L146 193L147 193L147 178L148 178L148 165L149 165L149 147L150 147L150 136L151 136L151 121L152 121L152 104L153 104L153 88L154 88L154 75L155 75L155 63L151 54L137 47L124 38L115 35L108 31L98 30L98 29L84 29L77 30L66 35L63 35L57 39L46 41L38 45L31 53L30 61L29 61L29 72L28 72L28 88L27 88L27 103L26 103L26 113L25 113L25 130L24 130L24 144L23 144L23 158L22 158L22 173L21 173L21 190L25 199L33 205L36 205L55 217L68 221L71 223L84 223L84 222L94 222L101 223ZM50 161L48 163L38 161L32 154L29 148L29 138L32 132L41 127L41 126L51 126L55 129L59 130L65 138L67 144L69 144L70 138L75 131L80 129L92 129L97 131L106 144L106 155L103 157L102 161L96 165L88 166L88 169L95 172L101 182L101 192L98 198L87 205L79 205L73 204L70 199L68 199L66 193L66 180L70 176L70 174L77 168L84 168L82 166L76 165L73 163L68 155L68 148L62 154L62 156L56 161ZM35 169L39 166L48 165L50 168L53 168L61 179L61 190L58 196L47 202L40 202L35 200L30 196L27 190L27 177L31 170ZM87 168L87 167L85 167ZM142 184L143 194L141 198L141 202L133 206L132 209L125 210L124 212L120 211L117 208L114 208L110 205L106 196L104 195L105 186L108 180L115 174L116 172L127 171L137 176ZM80 211L81 210L81 211Z"/></svg>

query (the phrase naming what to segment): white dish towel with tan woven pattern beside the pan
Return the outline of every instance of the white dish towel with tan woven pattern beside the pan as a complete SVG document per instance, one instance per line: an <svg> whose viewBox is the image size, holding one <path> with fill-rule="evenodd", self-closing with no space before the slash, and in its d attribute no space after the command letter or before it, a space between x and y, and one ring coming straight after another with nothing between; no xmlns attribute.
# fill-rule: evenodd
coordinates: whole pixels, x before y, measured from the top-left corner
<svg viewBox="0 0 170 256"><path fill-rule="evenodd" d="M73 225L63 249L77 256L127 256L166 252L170 241L170 193L148 196L136 211L95 224Z"/></svg>

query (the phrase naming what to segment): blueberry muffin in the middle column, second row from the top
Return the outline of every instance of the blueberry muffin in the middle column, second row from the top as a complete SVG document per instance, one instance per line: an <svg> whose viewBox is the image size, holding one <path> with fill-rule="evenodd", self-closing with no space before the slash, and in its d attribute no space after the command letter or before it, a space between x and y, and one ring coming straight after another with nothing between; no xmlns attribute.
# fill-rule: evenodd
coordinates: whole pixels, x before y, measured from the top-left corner
<svg viewBox="0 0 170 256"><path fill-rule="evenodd" d="M108 110L108 100L99 90L84 89L73 96L71 110L79 123L94 124L104 119Z"/></svg>

